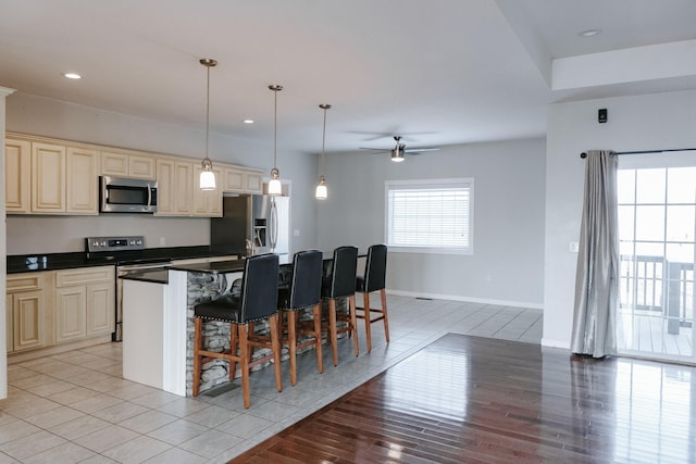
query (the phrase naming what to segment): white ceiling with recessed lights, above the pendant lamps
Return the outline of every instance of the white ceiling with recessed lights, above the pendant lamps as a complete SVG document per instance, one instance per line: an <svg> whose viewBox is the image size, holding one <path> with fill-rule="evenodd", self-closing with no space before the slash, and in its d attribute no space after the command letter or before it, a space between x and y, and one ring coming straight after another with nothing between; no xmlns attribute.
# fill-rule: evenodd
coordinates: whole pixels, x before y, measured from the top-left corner
<svg viewBox="0 0 696 464"><path fill-rule="evenodd" d="M327 152L539 137L551 102L696 88L555 90L557 59L693 41L695 20L693 0L0 0L0 86L203 130L212 58L210 129L233 140L272 142L271 84L278 151L321 151L320 103Z"/></svg>

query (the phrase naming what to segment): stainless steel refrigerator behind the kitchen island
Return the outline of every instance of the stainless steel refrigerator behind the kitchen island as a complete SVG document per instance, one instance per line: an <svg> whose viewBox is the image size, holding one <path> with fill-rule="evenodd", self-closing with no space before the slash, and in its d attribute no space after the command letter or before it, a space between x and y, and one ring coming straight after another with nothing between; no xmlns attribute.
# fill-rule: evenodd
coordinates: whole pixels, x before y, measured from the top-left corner
<svg viewBox="0 0 696 464"><path fill-rule="evenodd" d="M215 252L246 254L289 253L290 199L265 195L223 197L223 216L210 220L210 247Z"/></svg>

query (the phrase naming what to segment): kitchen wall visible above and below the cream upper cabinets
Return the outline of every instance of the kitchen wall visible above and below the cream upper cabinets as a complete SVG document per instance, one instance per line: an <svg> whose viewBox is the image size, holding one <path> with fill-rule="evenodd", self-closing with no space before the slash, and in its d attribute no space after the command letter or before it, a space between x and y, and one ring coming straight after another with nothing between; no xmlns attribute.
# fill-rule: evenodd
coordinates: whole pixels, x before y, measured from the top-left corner
<svg viewBox="0 0 696 464"><path fill-rule="evenodd" d="M45 99L22 92L7 100L7 130L55 137L111 147L202 158L203 130L163 124L94 108ZM251 143L220 134L210 134L210 158L270 172L273 140ZM283 179L291 180L291 223L299 236L293 250L312 248L316 242L316 210L309 192L318 176L316 156L286 153L278 148L278 168ZM145 235L148 247L210 243L207 218L172 218L148 215L9 216L8 253L83 251L84 237L105 235Z"/></svg>

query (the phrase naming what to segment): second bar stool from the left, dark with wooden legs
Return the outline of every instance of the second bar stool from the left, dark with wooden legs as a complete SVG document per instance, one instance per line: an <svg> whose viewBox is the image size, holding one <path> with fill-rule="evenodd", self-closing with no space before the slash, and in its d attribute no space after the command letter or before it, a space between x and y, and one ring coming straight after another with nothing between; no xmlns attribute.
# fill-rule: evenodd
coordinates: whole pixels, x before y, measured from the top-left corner
<svg viewBox="0 0 696 464"><path fill-rule="evenodd" d="M316 367L324 372L322 361L322 253L316 250L300 251L293 258L293 274L289 288L278 290L281 344L287 344L290 356L290 384L297 384L297 350L314 346ZM298 321L301 310L312 309L312 321L302 324ZM287 318L287 338L284 338L283 315ZM297 334L310 338L297 341Z"/></svg>

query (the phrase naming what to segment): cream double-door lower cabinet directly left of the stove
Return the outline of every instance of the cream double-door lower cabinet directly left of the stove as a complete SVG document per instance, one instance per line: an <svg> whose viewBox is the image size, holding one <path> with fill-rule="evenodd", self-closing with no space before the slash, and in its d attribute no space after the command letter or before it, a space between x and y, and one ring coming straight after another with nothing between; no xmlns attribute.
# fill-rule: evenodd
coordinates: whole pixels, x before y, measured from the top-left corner
<svg viewBox="0 0 696 464"><path fill-rule="evenodd" d="M55 343L114 330L114 268L84 267L55 273Z"/></svg>

